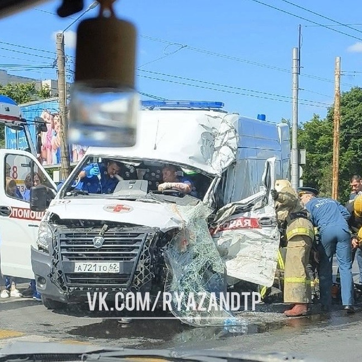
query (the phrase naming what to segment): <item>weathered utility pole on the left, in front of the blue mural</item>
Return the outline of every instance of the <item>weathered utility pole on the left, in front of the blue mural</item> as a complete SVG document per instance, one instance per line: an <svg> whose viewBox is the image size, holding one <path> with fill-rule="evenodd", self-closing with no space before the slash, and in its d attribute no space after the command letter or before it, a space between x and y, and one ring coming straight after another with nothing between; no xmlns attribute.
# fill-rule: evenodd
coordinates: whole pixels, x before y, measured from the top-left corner
<svg viewBox="0 0 362 362"><path fill-rule="evenodd" d="M66 70L64 56L64 33L56 34L56 59L58 65L58 99L60 111L60 177L65 179L70 174L68 148L68 114L66 93Z"/></svg>

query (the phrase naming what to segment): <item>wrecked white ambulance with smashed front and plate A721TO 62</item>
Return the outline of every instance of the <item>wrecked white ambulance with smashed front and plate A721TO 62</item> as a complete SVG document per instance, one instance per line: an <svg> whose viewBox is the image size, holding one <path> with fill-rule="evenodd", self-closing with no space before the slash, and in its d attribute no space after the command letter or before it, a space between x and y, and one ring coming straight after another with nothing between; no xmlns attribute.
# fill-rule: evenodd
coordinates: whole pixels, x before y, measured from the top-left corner
<svg viewBox="0 0 362 362"><path fill-rule="evenodd" d="M89 148L55 197L49 186L31 190L30 212L45 214L36 241L29 234L31 265L21 268L32 269L48 308L95 291L271 286L279 231L269 190L275 177L289 177L289 159L286 124L210 104L150 106L134 147ZM88 164L113 161L112 193L77 187ZM158 190L165 164L191 181L193 195ZM2 240L1 250L13 242Z"/></svg>

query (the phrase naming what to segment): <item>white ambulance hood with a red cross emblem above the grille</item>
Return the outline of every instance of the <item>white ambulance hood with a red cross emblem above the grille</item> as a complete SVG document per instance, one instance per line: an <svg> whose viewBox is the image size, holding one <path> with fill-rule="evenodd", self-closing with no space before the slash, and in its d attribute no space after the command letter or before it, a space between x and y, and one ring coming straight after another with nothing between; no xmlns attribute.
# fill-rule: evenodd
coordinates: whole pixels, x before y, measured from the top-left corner
<svg viewBox="0 0 362 362"><path fill-rule="evenodd" d="M159 228L163 232L180 229L182 219L167 203L126 201L117 199L56 199L47 212L60 219L105 220Z"/></svg>

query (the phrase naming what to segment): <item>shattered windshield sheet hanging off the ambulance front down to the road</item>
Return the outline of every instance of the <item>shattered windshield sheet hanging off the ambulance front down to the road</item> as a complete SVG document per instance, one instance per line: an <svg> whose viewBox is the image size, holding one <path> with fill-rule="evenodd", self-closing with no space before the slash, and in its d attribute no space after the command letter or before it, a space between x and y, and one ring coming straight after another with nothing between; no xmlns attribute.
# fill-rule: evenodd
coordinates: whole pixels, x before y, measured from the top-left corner
<svg viewBox="0 0 362 362"><path fill-rule="evenodd" d="M214 295L224 291L224 263L206 223L210 211L202 203L194 207L169 205L169 208L184 220L181 231L164 253L168 268L165 291L173 295L172 313L194 326L223 325L224 318L232 313L225 308L209 308ZM175 302L176 295L183 296L180 308ZM206 296L202 301L206 311L194 310L190 296L195 306ZM215 302L220 306L218 300Z"/></svg>

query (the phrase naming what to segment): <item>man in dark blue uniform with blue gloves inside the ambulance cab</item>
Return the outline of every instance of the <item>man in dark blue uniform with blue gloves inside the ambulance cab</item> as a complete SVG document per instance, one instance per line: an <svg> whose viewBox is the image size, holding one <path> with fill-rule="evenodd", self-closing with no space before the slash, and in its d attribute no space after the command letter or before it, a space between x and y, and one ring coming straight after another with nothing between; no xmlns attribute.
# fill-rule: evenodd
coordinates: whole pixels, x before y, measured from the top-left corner
<svg viewBox="0 0 362 362"><path fill-rule="evenodd" d="M91 163L79 173L80 182L76 188L91 194L111 194L118 184L116 175L120 169L120 164L112 160L107 163Z"/></svg>

